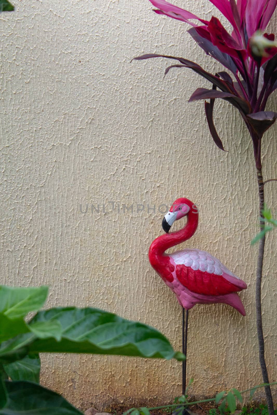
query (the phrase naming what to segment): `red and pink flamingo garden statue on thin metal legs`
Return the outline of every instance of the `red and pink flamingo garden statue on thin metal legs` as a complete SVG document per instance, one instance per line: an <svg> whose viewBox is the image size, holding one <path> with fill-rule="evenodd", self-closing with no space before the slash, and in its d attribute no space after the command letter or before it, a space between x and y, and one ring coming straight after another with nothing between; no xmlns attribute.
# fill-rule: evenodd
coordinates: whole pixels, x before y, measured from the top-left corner
<svg viewBox="0 0 277 415"><path fill-rule="evenodd" d="M173 223L187 217L186 225L170 232ZM199 249L184 249L165 254L169 248L191 238L197 229L198 210L189 199L175 200L162 220L165 234L157 237L149 249L149 261L154 270L174 292L183 307L183 353L186 354L188 310L196 304L225 303L245 315L245 309L237 291L247 288L243 280L235 276L221 261ZM186 328L184 332L184 310ZM186 386L186 362L183 363L183 394Z"/></svg>

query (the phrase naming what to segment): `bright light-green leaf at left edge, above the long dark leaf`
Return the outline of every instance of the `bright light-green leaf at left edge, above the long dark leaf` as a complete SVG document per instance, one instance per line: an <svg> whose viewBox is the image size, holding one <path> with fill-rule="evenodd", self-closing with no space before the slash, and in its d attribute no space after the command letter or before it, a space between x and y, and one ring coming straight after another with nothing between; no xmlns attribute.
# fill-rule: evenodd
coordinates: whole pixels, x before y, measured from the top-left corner
<svg viewBox="0 0 277 415"><path fill-rule="evenodd" d="M0 286L0 342L29 331L24 317L39 310L47 299L48 288Z"/></svg>

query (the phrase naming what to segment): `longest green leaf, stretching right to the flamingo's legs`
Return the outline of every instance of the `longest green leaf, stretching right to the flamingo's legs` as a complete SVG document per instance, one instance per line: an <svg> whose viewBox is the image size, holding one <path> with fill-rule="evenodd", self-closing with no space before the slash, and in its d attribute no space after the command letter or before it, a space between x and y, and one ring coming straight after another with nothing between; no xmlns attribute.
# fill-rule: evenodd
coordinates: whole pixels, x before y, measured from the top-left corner
<svg viewBox="0 0 277 415"><path fill-rule="evenodd" d="M155 357L183 360L184 355L174 352L171 344L159 331L140 322L133 322L96 308L53 308L40 311L29 322L32 325L59 322L61 341L49 330L43 336L26 333L11 339L0 348L0 361L24 351L31 353L91 353L124 356Z"/></svg>

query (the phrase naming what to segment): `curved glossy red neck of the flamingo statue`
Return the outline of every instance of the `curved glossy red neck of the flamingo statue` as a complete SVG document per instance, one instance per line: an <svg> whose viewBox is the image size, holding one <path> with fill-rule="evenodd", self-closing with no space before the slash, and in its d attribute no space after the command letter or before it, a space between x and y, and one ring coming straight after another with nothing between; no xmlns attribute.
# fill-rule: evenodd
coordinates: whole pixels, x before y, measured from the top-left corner
<svg viewBox="0 0 277 415"><path fill-rule="evenodd" d="M179 245L191 238L197 229L197 225L198 213L190 211L187 215L186 225L182 229L176 232L163 234L154 239L149 249L149 260L153 268L156 269L157 263L164 262L164 259L167 257L164 253L167 249Z"/></svg>

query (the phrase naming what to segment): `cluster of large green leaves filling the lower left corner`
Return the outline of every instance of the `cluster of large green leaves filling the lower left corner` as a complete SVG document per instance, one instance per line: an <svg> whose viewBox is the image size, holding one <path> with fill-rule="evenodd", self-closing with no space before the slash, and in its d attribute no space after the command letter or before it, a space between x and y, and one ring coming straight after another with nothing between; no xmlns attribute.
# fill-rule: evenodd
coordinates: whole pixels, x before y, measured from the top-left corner
<svg viewBox="0 0 277 415"><path fill-rule="evenodd" d="M96 308L38 311L48 288L0 286L0 415L80 412L39 386L40 352L117 354L183 360L159 331ZM38 311L26 321L29 312ZM11 381L7 381L7 378ZM132 415L150 415L133 408Z"/></svg>

